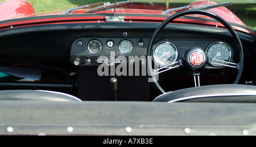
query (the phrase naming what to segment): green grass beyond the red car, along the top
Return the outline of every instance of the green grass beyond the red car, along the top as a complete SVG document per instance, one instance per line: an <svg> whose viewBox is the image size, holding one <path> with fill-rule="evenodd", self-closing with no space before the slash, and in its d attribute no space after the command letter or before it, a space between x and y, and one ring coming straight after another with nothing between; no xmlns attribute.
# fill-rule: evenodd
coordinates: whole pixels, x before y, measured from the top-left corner
<svg viewBox="0 0 256 147"><path fill-rule="evenodd" d="M2 2L3 0L0 0ZM102 2L104 0L27 0L34 7L36 13L66 10L68 8L79 7L91 3ZM117 2L129 0L117 0ZM166 3L170 1L170 6L185 6L196 0L132 0L133 2ZM232 6L227 6L233 11L247 26L256 29L256 1L255 0L212 0L217 3L232 2ZM107 2L107 0L106 0ZM108 0L113 3L114 0Z"/></svg>

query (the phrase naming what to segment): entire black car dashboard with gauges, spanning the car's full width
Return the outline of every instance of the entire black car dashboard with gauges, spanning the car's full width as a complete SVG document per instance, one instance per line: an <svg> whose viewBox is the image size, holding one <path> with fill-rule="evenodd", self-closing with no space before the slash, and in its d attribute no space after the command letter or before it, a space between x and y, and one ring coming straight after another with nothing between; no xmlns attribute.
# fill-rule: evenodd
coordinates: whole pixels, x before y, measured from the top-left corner
<svg viewBox="0 0 256 147"><path fill-rule="evenodd" d="M118 101L152 101L161 92L154 83L148 83L150 76L143 69L147 68L148 43L158 25L144 22L56 23L1 29L1 65L34 68L41 71L42 76L34 81L4 77L0 88L53 90L72 94L82 101L113 101L109 79L116 77ZM238 34L245 57L240 83L254 84L255 36ZM159 33L154 42L155 51L159 51L161 43L172 45L170 51L176 54L172 61L179 61L192 47L213 54L217 45L225 48L221 50L226 51L226 55L222 54L224 58L238 60L236 44L229 32L221 27L172 23ZM163 53L159 54L156 53L153 60L164 66L159 60ZM106 71L102 71L103 68ZM234 75L233 68L217 64L206 66L201 74L201 85L232 84ZM195 86L193 77L181 68L160 75L159 83L168 91Z"/></svg>

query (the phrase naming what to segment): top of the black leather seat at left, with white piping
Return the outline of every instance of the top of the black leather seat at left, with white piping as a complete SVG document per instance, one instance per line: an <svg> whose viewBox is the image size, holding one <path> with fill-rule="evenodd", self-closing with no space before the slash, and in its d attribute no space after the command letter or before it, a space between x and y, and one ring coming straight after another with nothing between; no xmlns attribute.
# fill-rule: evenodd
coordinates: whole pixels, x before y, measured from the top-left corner
<svg viewBox="0 0 256 147"><path fill-rule="evenodd" d="M81 102L79 98L69 94L46 90L0 90L0 101L1 100Z"/></svg>

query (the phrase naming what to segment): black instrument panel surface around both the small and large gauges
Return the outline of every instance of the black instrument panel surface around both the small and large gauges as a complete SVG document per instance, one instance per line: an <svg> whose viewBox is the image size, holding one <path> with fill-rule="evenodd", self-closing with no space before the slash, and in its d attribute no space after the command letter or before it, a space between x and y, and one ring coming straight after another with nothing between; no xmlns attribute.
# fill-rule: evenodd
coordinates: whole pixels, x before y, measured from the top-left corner
<svg viewBox="0 0 256 147"><path fill-rule="evenodd" d="M143 33L143 32L142 32ZM90 53L89 44L92 41L97 41L100 44L101 48L98 49L97 54ZM122 54L119 50L119 45L122 41L129 41L133 45L133 48L130 53ZM145 57L147 55L147 44L150 41L150 38L77 38L72 42L70 60L71 64L75 66L100 66L102 63L106 63L108 66L111 64L125 63L125 64L134 64L132 60L137 59L134 57ZM182 59L183 55L188 49L192 47L199 47L204 51L207 51L207 48L213 42L225 42L230 49L230 54L232 55L232 60L237 60L237 50L232 41L225 38L166 38L159 37L155 44L162 41L172 42L177 47L179 57L177 60ZM108 44L111 42L113 46L109 47ZM110 57L112 59L110 59ZM123 58L119 58L123 57ZM125 58L125 59L124 59ZM143 59L145 59L143 58ZM119 60L118 60L119 59ZM121 59L121 60L120 60ZM142 58L141 58L142 59ZM113 61L114 60L114 61ZM113 62L112 62L113 61ZM112 64L112 63L113 64Z"/></svg>

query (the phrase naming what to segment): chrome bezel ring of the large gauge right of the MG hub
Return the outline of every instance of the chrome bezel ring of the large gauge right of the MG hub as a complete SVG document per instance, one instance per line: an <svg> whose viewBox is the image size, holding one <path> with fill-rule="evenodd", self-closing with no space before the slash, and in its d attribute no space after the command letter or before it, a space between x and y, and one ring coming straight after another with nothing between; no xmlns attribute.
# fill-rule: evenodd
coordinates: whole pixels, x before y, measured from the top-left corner
<svg viewBox="0 0 256 147"><path fill-rule="evenodd" d="M215 44L222 44L222 45L225 45L225 46L226 46L226 49L229 50L229 58L228 58L228 60L225 60L225 61L230 61L230 60L232 60L232 58L233 58L233 49L232 49L232 47L231 47L228 43L226 43L226 42L224 42L224 41L214 41L214 42L210 43L210 44L207 46L207 49L205 50L205 53L207 53L207 58L209 57L208 54L209 54L209 49L210 49L210 47L213 46L213 45L215 45ZM213 58L213 57L212 57L212 58ZM223 63L223 64L226 64L226 63ZM210 63L210 66L213 66L213 67L223 67L223 66L221 66L221 65L217 65L217 64L214 64L214 63Z"/></svg>

